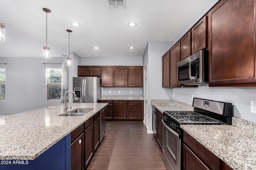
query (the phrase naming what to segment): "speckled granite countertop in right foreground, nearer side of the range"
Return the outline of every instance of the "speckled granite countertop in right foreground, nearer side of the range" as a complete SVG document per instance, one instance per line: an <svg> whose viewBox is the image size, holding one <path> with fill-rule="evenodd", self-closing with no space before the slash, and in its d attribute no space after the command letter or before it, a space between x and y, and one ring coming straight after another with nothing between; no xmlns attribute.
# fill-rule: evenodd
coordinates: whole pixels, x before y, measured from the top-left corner
<svg viewBox="0 0 256 170"><path fill-rule="evenodd" d="M256 134L233 125L181 125L234 170L256 170Z"/></svg>

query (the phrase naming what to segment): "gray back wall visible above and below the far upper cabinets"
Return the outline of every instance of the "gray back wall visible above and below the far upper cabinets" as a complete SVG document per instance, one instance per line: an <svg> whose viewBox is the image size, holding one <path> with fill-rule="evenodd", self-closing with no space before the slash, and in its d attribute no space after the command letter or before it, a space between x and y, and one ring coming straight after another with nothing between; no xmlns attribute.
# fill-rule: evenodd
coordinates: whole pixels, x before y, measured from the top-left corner
<svg viewBox="0 0 256 170"><path fill-rule="evenodd" d="M82 57L84 66L142 66L142 57ZM143 88L102 88L102 96L142 96ZM111 94L109 94L111 91ZM120 94L118 93L120 91ZM132 91L132 94L130 94Z"/></svg>

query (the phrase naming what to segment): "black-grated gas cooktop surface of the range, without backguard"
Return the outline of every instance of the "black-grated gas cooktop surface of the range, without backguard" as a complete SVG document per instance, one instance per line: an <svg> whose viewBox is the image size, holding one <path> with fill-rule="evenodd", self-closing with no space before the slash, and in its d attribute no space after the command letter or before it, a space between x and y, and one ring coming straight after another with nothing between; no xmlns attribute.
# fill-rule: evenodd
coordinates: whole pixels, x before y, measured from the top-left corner
<svg viewBox="0 0 256 170"><path fill-rule="evenodd" d="M219 121L212 117L202 115L195 111L164 111L176 120L179 124L225 124L223 121Z"/></svg>

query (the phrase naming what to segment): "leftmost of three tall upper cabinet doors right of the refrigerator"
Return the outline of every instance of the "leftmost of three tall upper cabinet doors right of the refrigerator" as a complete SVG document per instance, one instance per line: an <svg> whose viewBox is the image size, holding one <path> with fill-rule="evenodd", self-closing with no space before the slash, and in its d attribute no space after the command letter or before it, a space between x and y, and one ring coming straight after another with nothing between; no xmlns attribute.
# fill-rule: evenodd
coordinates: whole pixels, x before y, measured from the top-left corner
<svg viewBox="0 0 256 170"><path fill-rule="evenodd" d="M114 87L114 67L103 66L101 78L102 87Z"/></svg>

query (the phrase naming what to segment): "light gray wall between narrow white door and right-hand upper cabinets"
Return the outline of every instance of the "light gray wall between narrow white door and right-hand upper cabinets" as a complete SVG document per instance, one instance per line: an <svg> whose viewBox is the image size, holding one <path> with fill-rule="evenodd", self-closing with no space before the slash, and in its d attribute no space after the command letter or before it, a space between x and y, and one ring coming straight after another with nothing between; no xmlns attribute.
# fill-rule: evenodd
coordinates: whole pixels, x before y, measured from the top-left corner
<svg viewBox="0 0 256 170"><path fill-rule="evenodd" d="M152 132L152 99L170 99L172 90L162 88L162 55L171 47L171 41L150 41L143 55L143 67L148 64L148 132Z"/></svg>

